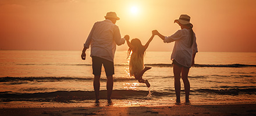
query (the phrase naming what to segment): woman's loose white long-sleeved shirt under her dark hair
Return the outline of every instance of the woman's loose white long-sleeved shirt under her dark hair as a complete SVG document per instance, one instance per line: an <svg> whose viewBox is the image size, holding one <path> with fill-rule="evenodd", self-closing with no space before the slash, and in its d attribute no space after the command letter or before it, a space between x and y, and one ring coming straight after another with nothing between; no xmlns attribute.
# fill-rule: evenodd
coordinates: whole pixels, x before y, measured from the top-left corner
<svg viewBox="0 0 256 116"><path fill-rule="evenodd" d="M193 54L197 53L197 42L194 34L194 42L192 47L190 48L190 30L183 28L182 30L178 30L175 34L170 35L169 37L165 37L163 42L169 43L175 41L175 45L173 47L171 60L176 60L177 63L182 66L191 67Z"/></svg>

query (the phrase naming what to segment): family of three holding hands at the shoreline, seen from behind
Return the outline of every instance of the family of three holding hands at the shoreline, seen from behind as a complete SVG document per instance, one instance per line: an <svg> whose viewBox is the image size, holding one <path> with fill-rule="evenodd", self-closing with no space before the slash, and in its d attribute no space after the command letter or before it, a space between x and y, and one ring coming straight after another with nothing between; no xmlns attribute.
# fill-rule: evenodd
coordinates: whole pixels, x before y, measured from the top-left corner
<svg viewBox="0 0 256 116"><path fill-rule="evenodd" d="M150 42L155 35L165 43L175 42L171 60L173 61L173 74L175 78L175 92L176 103L180 102L180 78L184 83L184 89L186 94L185 104L190 104L190 82L188 74L190 67L194 65L195 54L198 52L195 33L193 31L193 24L190 23L190 16L187 14L180 15L179 19L174 22L179 24L181 30L176 31L169 37L160 34L157 30L152 31L152 36L148 39L145 45L141 44L140 39L134 38L129 41L129 35L121 37L119 27L116 26L116 20L119 17L115 12L106 13L105 20L97 21L94 23L90 34L84 44L83 51L81 53L81 59L86 59L86 50L91 46L91 58L94 74L94 91L96 103L99 102L99 78L101 77L102 64L105 68L107 77L106 89L108 103L111 103L111 95L113 90L113 74L115 74L113 59L115 56L116 45L120 46L125 44L129 46L128 54L130 56L130 76L135 77L138 82L145 83L147 87L150 87L150 83L147 79L143 79L145 71L150 70L151 67L144 67L144 53L150 45Z"/></svg>

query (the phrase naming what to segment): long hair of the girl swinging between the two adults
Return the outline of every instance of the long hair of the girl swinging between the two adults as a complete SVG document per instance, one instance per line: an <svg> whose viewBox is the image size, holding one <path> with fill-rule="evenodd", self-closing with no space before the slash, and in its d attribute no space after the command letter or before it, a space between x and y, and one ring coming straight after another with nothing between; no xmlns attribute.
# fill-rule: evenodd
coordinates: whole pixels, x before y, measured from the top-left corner
<svg viewBox="0 0 256 116"><path fill-rule="evenodd" d="M128 49L128 51L127 51L128 52L127 58L130 56L131 50L133 50L132 52L137 53L138 56L143 56L144 55L145 48L141 44L140 39L138 39L138 38L131 39L131 45L133 45L134 48L133 49L131 49L131 48Z"/></svg>

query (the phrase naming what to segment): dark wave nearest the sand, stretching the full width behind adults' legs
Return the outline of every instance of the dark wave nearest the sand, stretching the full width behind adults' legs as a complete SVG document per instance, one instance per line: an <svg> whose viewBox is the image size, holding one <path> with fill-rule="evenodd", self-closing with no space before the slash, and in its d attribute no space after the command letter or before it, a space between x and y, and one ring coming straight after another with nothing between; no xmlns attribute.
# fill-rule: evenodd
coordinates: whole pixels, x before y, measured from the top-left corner
<svg viewBox="0 0 256 116"><path fill-rule="evenodd" d="M154 97L175 97L175 90L169 92L151 91L151 99ZM184 92L184 90L182 90ZM113 90L112 99L145 99L148 95L145 90ZM99 99L106 99L106 90L99 92ZM255 88L247 89L195 89L191 90L191 95L256 95ZM0 101L32 101L32 102L74 102L83 100L94 100L94 91L56 91L44 93L12 93L0 92Z"/></svg>

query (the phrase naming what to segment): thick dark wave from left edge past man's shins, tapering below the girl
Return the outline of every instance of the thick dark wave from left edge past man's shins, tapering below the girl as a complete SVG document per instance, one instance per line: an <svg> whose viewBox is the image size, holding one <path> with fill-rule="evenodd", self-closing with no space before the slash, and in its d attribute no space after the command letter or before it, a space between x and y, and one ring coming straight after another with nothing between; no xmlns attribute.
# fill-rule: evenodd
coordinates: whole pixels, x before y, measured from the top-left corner
<svg viewBox="0 0 256 116"><path fill-rule="evenodd" d="M151 92L154 96L165 96L166 93ZM106 90L100 90L99 99L106 99ZM113 90L112 99L141 99L147 97L145 90ZM1 92L0 101L33 101L33 102L71 102L72 100L94 100L94 91L56 91L45 93L11 93Z"/></svg>

